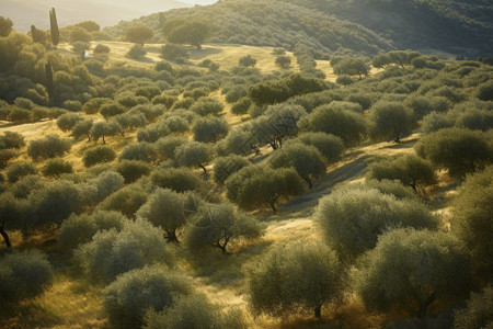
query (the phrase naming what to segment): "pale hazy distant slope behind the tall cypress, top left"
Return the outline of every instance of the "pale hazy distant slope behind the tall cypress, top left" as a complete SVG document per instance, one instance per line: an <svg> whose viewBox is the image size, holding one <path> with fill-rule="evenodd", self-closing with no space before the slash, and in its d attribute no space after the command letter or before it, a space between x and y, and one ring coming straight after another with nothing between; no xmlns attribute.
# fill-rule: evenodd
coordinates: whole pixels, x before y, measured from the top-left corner
<svg viewBox="0 0 493 329"><path fill-rule="evenodd" d="M27 32L31 25L49 29L48 10L55 8L60 27L82 21L95 21L101 26L115 25L153 12L191 4L174 0L1 0L0 14L14 22L14 29Z"/></svg>

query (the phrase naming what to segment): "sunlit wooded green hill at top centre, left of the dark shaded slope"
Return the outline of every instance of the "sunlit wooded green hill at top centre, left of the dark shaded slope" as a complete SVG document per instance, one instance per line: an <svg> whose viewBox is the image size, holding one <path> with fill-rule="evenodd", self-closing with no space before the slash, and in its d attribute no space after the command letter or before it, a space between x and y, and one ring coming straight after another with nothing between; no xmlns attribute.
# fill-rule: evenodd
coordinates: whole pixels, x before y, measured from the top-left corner
<svg viewBox="0 0 493 329"><path fill-rule="evenodd" d="M274 46L289 50L302 44L322 53L349 48L369 56L393 48L388 39L360 24L317 9L275 0L220 1L213 5L171 10L163 14L164 20L175 16L209 20L215 31L210 38L213 43ZM157 32L161 29L159 15L152 14L133 22L121 22L104 32L118 37L131 24L146 24ZM163 38L154 41L164 42Z"/></svg>

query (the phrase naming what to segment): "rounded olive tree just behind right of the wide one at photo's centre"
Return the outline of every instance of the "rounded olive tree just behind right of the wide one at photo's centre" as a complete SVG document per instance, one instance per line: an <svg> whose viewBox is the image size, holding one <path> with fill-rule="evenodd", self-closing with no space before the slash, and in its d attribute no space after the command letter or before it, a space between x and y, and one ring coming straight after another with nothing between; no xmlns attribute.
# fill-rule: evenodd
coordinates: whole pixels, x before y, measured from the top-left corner
<svg viewBox="0 0 493 329"><path fill-rule="evenodd" d="M313 180L325 174L325 162L314 146L301 143L289 144L272 152L268 164L276 168L294 168L308 188L313 186Z"/></svg>

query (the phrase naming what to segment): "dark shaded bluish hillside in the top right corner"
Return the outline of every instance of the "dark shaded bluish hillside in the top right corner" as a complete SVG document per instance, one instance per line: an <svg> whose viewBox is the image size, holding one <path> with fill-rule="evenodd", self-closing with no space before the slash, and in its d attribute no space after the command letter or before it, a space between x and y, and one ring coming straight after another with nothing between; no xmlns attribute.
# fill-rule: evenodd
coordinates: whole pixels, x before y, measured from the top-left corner
<svg viewBox="0 0 493 329"><path fill-rule="evenodd" d="M493 55L491 0L284 0L362 24L399 48Z"/></svg>

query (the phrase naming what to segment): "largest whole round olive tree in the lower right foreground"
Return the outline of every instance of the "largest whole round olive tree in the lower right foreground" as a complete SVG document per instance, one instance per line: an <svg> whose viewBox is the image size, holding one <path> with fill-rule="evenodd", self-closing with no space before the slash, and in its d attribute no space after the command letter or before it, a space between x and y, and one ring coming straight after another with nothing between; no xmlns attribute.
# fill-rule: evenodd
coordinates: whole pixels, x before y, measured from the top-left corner
<svg viewBox="0 0 493 329"><path fill-rule="evenodd" d="M399 307L424 319L432 303L468 294L469 259L446 232L400 228L382 235L365 254L354 283L369 309Z"/></svg>

